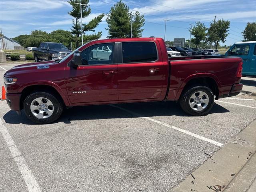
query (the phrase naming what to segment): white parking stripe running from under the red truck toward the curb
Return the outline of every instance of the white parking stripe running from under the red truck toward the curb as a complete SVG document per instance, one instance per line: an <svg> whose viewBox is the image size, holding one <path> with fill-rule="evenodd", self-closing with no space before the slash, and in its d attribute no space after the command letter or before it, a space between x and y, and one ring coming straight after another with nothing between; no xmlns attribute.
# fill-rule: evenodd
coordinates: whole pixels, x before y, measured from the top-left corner
<svg viewBox="0 0 256 192"><path fill-rule="evenodd" d="M181 129L181 128L178 128L178 127L175 127L175 126L172 126L172 125L169 125L169 124L166 124L166 123L164 123L164 122L160 122L160 121L158 121L158 120L154 120L154 119L152 119L152 118L150 118L150 117L144 117L144 116L141 115L141 114L138 114L138 113L136 113L136 112L132 112L132 111L127 110L127 109L125 109L125 108L122 108L122 107L119 107L119 106L116 106L116 105L113 105L113 104L110 104L110 106L115 107L115 108L118 108L118 109L123 110L123 111L125 111L125 112L128 112L128 113L130 113L130 114L133 114L133 115L135 115L135 116L138 116L138 117L141 117L141 118L145 118L145 119L150 120L150 121L152 121L152 122L156 122L156 123L161 124L161 125L163 125L163 126L166 126L166 127L168 127L168 128L172 128L172 129L174 129L174 130L177 130L177 131L180 131L180 132L182 132L182 133L188 134L188 135L190 135L190 136L193 136L193 137L198 138L198 139L200 139L200 140L203 140L203 141L206 141L206 142L208 142L208 143L214 144L214 145L216 145L216 146L219 146L219 147L222 147L222 146L223 146L222 143L219 143L219 142L217 142L217 141L214 141L214 140L208 139L208 138L206 138L206 137L200 136L200 135L198 135L198 134L189 132L189 131L187 131L187 130L184 130L184 129Z"/></svg>

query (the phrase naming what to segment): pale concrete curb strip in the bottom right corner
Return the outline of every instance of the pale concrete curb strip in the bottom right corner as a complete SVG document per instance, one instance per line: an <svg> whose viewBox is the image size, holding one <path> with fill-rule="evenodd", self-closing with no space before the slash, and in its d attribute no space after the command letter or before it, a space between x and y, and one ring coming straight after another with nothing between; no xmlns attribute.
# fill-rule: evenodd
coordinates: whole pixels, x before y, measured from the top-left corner
<svg viewBox="0 0 256 192"><path fill-rule="evenodd" d="M227 185L231 188L232 180L237 174L243 172L243 168L248 167L246 163L256 152L255 127L256 120L236 137L231 138L223 148L209 157L202 166L188 175L178 186L170 189L169 192L218 192L225 190ZM253 170L252 174L255 174ZM248 189L248 187L250 187L249 184L245 188ZM243 190L234 190L233 188L231 191L242 192Z"/></svg>

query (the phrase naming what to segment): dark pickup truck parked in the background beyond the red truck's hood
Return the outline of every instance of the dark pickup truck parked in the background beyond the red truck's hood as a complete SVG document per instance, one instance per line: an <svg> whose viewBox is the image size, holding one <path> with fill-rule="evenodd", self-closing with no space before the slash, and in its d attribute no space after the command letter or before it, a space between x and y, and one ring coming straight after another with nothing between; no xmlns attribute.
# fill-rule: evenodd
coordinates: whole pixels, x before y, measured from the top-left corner
<svg viewBox="0 0 256 192"><path fill-rule="evenodd" d="M62 59L72 51L62 43L41 43L39 48L33 48L34 59L38 61Z"/></svg>

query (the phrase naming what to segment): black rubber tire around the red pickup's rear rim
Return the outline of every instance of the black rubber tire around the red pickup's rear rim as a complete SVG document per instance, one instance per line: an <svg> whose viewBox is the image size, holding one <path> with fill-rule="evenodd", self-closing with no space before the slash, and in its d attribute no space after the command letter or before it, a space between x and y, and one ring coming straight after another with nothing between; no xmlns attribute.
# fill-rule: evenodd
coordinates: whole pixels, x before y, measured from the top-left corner
<svg viewBox="0 0 256 192"><path fill-rule="evenodd" d="M202 111L196 111L190 107L190 97L192 96L192 94L199 91L205 92L208 95L208 99L209 99L208 105ZM179 103L181 108L190 115L193 115L193 116L206 115L214 105L214 94L212 90L205 85L190 86L182 92L182 95L180 96L180 99L179 99Z"/></svg>

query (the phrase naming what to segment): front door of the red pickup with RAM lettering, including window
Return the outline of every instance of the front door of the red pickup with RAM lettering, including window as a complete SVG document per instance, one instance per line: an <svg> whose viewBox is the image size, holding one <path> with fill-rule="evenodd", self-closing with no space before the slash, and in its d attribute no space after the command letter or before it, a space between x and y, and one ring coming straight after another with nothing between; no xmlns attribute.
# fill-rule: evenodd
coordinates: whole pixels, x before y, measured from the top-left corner
<svg viewBox="0 0 256 192"><path fill-rule="evenodd" d="M93 52L107 45L114 50L110 59L98 58ZM118 101L117 54L115 43L94 44L81 51L83 65L67 67L66 88L72 103Z"/></svg>

